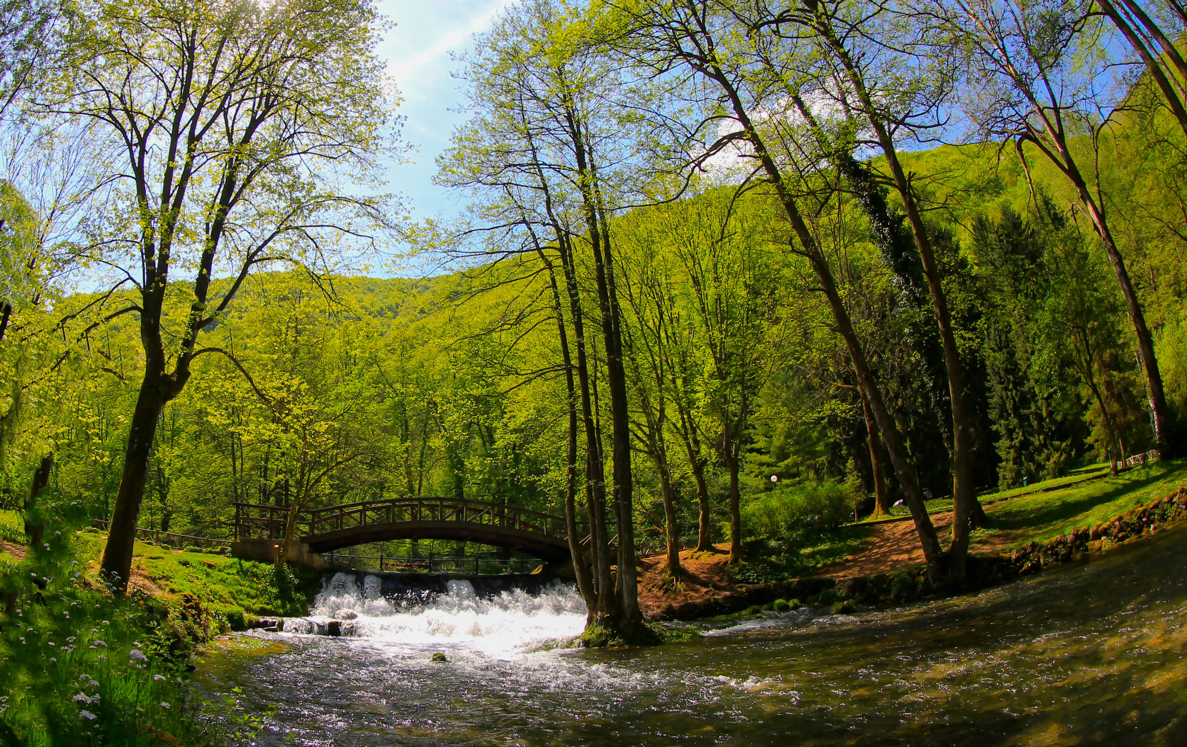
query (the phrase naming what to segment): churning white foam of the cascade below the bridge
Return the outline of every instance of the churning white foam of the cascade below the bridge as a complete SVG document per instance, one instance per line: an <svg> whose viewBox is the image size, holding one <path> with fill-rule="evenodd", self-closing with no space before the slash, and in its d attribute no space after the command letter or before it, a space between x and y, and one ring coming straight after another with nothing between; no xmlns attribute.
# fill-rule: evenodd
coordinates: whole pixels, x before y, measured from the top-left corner
<svg viewBox="0 0 1187 747"><path fill-rule="evenodd" d="M423 651L452 648L487 656L508 656L541 641L579 635L585 627L585 602L573 588L553 582L539 594L503 591L480 597L469 581L449 581L445 594L393 604L381 594L377 576L366 576L358 588L354 575L335 574L313 600L313 620L350 618L342 633L386 647ZM285 626L287 629L287 625Z"/></svg>

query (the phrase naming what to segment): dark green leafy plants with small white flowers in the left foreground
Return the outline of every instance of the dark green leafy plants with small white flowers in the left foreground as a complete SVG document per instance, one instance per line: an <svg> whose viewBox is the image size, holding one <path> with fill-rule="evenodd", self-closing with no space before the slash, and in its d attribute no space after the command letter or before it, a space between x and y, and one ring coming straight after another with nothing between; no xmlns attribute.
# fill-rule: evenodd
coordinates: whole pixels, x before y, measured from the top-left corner
<svg viewBox="0 0 1187 747"><path fill-rule="evenodd" d="M148 747L169 734L205 743L185 661L214 632L209 613L196 600L115 600L94 589L81 572L87 543L71 531L81 507L51 496L45 514L49 549L31 547L7 574L20 597L0 628L0 739Z"/></svg>

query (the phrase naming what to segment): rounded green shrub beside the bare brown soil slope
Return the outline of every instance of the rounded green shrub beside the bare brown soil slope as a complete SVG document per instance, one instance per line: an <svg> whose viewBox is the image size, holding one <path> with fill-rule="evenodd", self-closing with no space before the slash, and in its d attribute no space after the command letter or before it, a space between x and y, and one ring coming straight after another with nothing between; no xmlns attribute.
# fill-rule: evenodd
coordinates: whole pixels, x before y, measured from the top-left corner
<svg viewBox="0 0 1187 747"><path fill-rule="evenodd" d="M812 530L836 530L853 515L852 495L845 486L779 486L742 507L742 532L748 537L776 538Z"/></svg>

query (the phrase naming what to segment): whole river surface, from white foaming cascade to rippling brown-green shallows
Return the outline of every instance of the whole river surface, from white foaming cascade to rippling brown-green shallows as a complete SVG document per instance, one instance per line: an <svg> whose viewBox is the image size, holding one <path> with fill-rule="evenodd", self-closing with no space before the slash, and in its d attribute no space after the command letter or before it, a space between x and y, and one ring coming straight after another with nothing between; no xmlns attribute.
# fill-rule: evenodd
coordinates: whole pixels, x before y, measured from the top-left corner
<svg viewBox="0 0 1187 747"><path fill-rule="evenodd" d="M254 633L286 646L215 656L198 686L273 708L256 745L1187 745L1187 526L975 596L654 648L542 651L584 622L559 585L393 607L376 582L338 576L311 610L357 612L350 637Z"/></svg>

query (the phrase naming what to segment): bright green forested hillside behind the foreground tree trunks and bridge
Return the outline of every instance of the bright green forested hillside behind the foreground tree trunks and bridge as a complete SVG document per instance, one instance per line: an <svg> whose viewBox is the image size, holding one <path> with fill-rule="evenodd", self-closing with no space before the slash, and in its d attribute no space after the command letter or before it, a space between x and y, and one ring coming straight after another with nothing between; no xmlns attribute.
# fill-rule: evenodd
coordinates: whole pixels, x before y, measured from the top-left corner
<svg viewBox="0 0 1187 747"><path fill-rule="evenodd" d="M1153 445L1104 258L1060 209L1058 184L1036 175L1033 197L1017 159L1007 153L998 163L998 156L966 147L909 157L937 205L928 221L942 238L938 253L970 372L982 492ZM1182 246L1151 221L1125 220L1143 209L1118 215L1131 223L1135 246L1151 249L1134 253L1134 274L1151 302L1168 392L1181 407ZM852 240L838 247L837 264L848 303L876 353L922 483L937 498L950 495L942 361L915 344L915 335L927 335L926 310L901 300L901 280L863 240L865 219L851 204L843 210L838 220ZM681 542L694 544L703 480L712 540L728 536L723 432L734 428L744 505L769 506L769 494L791 501L804 487L836 483L845 496L840 517L851 517L855 504L858 515L875 511L852 373L802 262L780 248L783 229L769 200L719 188L628 211L612 230L628 319L640 528L661 537L661 499L671 489ZM208 329L208 346L224 353L202 359L198 384L164 410L140 526L228 537L234 501L317 506L405 495L563 512L566 395L541 270L538 259L516 257L421 280L255 277ZM95 300L63 298L53 315ZM125 317L68 337L71 344L58 336L34 350L9 338L9 500L21 498L37 458L52 450L55 485L83 498L94 515L109 514L141 378L135 335L135 319ZM596 347L591 355L602 357ZM598 401L595 417L607 422L605 397ZM896 480L881 458L893 502ZM748 532L767 531L756 521Z"/></svg>

